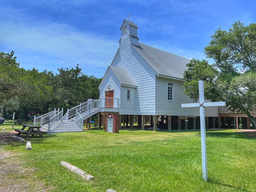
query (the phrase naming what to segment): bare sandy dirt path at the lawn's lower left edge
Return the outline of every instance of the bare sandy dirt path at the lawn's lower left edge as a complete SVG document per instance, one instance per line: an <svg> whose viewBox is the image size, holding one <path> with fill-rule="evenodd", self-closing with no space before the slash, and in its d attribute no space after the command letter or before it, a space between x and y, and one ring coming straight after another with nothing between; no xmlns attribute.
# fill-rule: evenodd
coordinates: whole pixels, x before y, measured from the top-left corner
<svg viewBox="0 0 256 192"><path fill-rule="evenodd" d="M0 191L1 192L47 192L42 183L33 182L31 173L35 169L22 166L20 159L12 152L3 151L3 145L6 143L16 143L19 140L10 138L10 135L16 133L1 132L0 133ZM25 148L25 144L24 144Z"/></svg>

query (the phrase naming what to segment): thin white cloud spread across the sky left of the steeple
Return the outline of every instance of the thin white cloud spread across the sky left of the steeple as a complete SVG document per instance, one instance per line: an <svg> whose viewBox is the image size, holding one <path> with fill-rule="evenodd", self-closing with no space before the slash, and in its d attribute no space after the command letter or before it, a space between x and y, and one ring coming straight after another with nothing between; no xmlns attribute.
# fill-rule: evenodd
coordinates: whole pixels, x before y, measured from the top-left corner
<svg viewBox="0 0 256 192"><path fill-rule="evenodd" d="M21 60L20 66L24 68L43 67L43 70L56 71L62 66L71 68L79 63L81 68L90 69L83 70L85 74L103 77L118 48L116 39L49 20L31 21L22 16L16 22L2 22L1 26L0 48L2 45L7 52L14 50L17 61ZM100 74L93 74L96 68Z"/></svg>

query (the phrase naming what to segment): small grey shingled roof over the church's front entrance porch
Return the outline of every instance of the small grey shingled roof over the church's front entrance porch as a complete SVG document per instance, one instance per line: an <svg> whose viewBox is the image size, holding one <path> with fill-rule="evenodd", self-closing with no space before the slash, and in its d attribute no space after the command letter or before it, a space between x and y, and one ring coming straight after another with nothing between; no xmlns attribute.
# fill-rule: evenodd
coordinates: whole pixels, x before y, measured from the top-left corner
<svg viewBox="0 0 256 192"><path fill-rule="evenodd" d="M131 87L137 87L136 83L133 81L131 76L127 73L127 71L123 68L113 67L109 66L110 69L113 71L115 76L120 81L121 85L123 86L131 86Z"/></svg>

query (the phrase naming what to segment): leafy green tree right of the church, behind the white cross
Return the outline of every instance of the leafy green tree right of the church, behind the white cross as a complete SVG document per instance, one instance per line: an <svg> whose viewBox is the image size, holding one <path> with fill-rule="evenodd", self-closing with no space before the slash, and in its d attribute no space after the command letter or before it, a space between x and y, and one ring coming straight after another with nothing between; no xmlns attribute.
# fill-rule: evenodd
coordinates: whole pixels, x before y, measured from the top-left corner
<svg viewBox="0 0 256 192"><path fill-rule="evenodd" d="M226 101L234 112L245 113L256 126L250 111L256 106L256 24L235 22L229 31L219 28L205 47L206 60L192 59L184 72L184 93L198 99L198 80L204 80L205 98Z"/></svg>

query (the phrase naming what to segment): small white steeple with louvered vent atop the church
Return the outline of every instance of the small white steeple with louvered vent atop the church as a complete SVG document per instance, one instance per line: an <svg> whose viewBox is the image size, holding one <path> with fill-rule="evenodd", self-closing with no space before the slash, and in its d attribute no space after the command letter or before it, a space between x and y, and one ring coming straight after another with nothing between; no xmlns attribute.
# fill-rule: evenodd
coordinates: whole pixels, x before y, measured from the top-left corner
<svg viewBox="0 0 256 192"><path fill-rule="evenodd" d="M133 22L130 22L126 19L124 19L124 22L120 28L121 30L121 39L119 41L119 46L124 42L127 42L129 38L129 43L133 45L139 45L139 38L137 37L137 25L135 25Z"/></svg>

